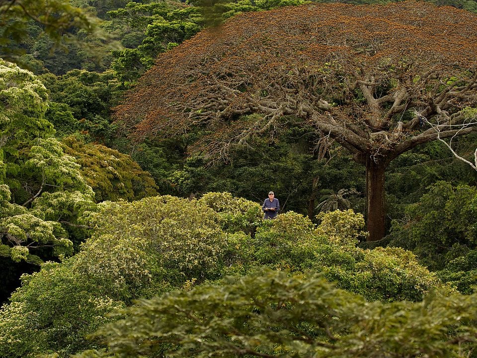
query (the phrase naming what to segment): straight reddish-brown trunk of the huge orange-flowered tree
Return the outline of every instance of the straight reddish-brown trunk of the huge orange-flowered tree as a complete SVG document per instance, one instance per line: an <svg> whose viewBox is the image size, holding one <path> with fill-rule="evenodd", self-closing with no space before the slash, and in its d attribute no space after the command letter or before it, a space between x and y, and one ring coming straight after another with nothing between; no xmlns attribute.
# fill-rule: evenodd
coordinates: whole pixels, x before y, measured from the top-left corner
<svg viewBox="0 0 477 358"><path fill-rule="evenodd" d="M367 190L367 230L368 241L381 240L385 233L386 211L384 206L384 173L386 165L366 161L366 190Z"/></svg>

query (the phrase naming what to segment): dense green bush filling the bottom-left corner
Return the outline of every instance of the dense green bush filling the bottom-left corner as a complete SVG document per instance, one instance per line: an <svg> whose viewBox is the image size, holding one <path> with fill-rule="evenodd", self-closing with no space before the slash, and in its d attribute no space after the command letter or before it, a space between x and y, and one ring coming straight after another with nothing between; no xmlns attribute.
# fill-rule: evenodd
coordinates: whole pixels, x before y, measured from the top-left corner
<svg viewBox="0 0 477 358"><path fill-rule="evenodd" d="M2 357L35 357L52 351L66 357L101 347L85 336L111 321L106 313L124 307L73 269L71 259L44 264L39 272L23 276L22 283L0 310Z"/></svg>

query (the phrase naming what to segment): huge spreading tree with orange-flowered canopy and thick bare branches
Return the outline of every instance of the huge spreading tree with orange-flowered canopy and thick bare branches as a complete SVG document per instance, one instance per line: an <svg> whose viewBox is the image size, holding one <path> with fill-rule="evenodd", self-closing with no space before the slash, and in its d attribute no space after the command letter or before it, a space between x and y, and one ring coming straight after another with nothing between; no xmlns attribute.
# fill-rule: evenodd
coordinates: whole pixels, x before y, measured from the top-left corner
<svg viewBox="0 0 477 358"><path fill-rule="evenodd" d="M197 128L220 158L295 116L366 166L369 240L400 154L475 130L477 16L429 2L306 4L245 13L157 60L117 108L136 138ZM254 114L254 115L251 115ZM212 157L211 157L212 158Z"/></svg>

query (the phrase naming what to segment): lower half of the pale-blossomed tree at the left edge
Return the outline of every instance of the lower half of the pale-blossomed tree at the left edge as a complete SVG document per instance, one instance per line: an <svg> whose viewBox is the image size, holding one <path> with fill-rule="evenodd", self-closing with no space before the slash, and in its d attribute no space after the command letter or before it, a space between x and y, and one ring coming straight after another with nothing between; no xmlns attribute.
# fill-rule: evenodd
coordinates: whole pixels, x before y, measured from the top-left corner
<svg viewBox="0 0 477 358"><path fill-rule="evenodd" d="M34 209L0 219L2 242L11 247L11 258L17 262L28 261L29 254L39 247L51 247L54 256L71 255L73 242L68 238L60 221L66 225L74 225L71 223L74 221L72 217L75 212L81 211L79 206L90 207L94 197L91 187L80 175L79 165L73 157L63 153L60 142L54 138L38 138L36 141L37 145L29 149L26 161L18 162L21 171L27 173L21 180L32 183L31 186L23 186L26 191L31 190L31 194L22 206L33 202ZM36 183L36 178L41 182ZM41 195L43 190L51 188L58 191ZM36 203L38 198L41 199ZM53 211L56 211L57 215Z"/></svg>

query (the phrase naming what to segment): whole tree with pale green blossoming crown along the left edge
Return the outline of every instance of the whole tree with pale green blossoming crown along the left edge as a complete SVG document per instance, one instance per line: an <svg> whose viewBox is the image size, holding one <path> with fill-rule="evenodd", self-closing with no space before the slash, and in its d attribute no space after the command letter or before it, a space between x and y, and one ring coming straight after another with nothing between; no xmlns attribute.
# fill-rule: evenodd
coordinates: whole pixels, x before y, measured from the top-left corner
<svg viewBox="0 0 477 358"><path fill-rule="evenodd" d="M43 249L48 257L72 254L72 231L65 228L76 224L80 205L93 204L79 165L51 137L47 109L47 90L38 78L0 60L0 256L16 262L41 262Z"/></svg>

